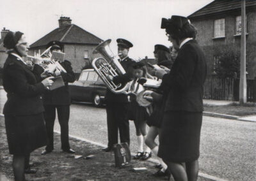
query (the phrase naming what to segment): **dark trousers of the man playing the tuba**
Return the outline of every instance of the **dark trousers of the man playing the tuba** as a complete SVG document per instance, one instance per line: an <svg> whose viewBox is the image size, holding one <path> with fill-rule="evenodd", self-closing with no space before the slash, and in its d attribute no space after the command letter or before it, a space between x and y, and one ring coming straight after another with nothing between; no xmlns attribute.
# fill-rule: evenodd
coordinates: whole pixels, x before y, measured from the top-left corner
<svg viewBox="0 0 256 181"><path fill-rule="evenodd" d="M130 144L128 103L107 102L108 147L118 143L118 130L121 143Z"/></svg>

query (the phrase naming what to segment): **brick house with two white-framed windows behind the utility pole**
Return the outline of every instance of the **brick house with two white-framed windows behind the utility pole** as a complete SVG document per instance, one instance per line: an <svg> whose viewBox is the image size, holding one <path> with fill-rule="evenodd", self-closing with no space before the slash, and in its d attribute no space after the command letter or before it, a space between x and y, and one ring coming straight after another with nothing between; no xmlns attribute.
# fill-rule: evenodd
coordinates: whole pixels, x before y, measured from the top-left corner
<svg viewBox="0 0 256 181"><path fill-rule="evenodd" d="M240 52L241 1L215 0L188 16L198 30L196 40L204 49L208 74L214 74L221 50ZM256 76L256 1L246 1L246 71Z"/></svg>

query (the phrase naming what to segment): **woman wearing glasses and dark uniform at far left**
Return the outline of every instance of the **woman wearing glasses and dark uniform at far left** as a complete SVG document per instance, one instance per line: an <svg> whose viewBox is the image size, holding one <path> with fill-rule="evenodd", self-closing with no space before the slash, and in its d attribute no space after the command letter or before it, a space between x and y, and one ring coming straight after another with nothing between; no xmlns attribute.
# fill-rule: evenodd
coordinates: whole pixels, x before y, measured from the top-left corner
<svg viewBox="0 0 256 181"><path fill-rule="evenodd" d="M3 87L7 101L3 113L10 154L13 154L15 180L25 180L24 170L29 165L29 155L46 145L44 106L40 96L52 84L52 77L42 82L22 57L28 54L28 43L23 33L10 31L4 38L8 58L3 68Z"/></svg>

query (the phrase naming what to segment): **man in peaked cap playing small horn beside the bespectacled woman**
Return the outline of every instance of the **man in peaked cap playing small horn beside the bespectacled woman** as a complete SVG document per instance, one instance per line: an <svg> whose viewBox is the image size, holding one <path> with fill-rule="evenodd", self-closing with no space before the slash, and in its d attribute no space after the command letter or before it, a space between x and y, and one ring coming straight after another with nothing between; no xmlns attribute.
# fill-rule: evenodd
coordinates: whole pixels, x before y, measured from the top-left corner
<svg viewBox="0 0 256 181"><path fill-rule="evenodd" d="M60 41L50 41L47 44L47 48L49 47L51 47L51 53L52 51L61 52L63 49L63 44ZM63 62L59 61L59 63L67 71L67 73L64 73L63 71L55 71L55 74L56 76L61 76L63 78L65 86L59 87L58 89L54 89L52 91L47 91L44 94L44 119L48 143L45 147L45 150L42 151L42 155L48 154L54 149L53 127L56 118L56 110L61 127L61 149L64 152L70 154L75 153L75 151L70 148L68 141L68 120L70 115L70 96L68 91L68 82L75 81L75 74L72 70L71 62L65 60Z"/></svg>

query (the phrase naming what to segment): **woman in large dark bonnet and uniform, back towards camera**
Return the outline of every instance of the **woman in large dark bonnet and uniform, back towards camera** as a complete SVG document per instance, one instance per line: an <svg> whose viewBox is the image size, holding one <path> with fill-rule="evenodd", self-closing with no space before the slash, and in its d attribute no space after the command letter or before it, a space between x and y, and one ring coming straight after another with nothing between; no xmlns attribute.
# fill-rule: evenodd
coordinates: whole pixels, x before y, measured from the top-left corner
<svg viewBox="0 0 256 181"><path fill-rule="evenodd" d="M162 19L161 28L179 52L170 73L159 71L159 89L167 94L159 136L159 152L175 180L196 180L203 112L205 56L188 18ZM152 93L154 94L154 93Z"/></svg>

